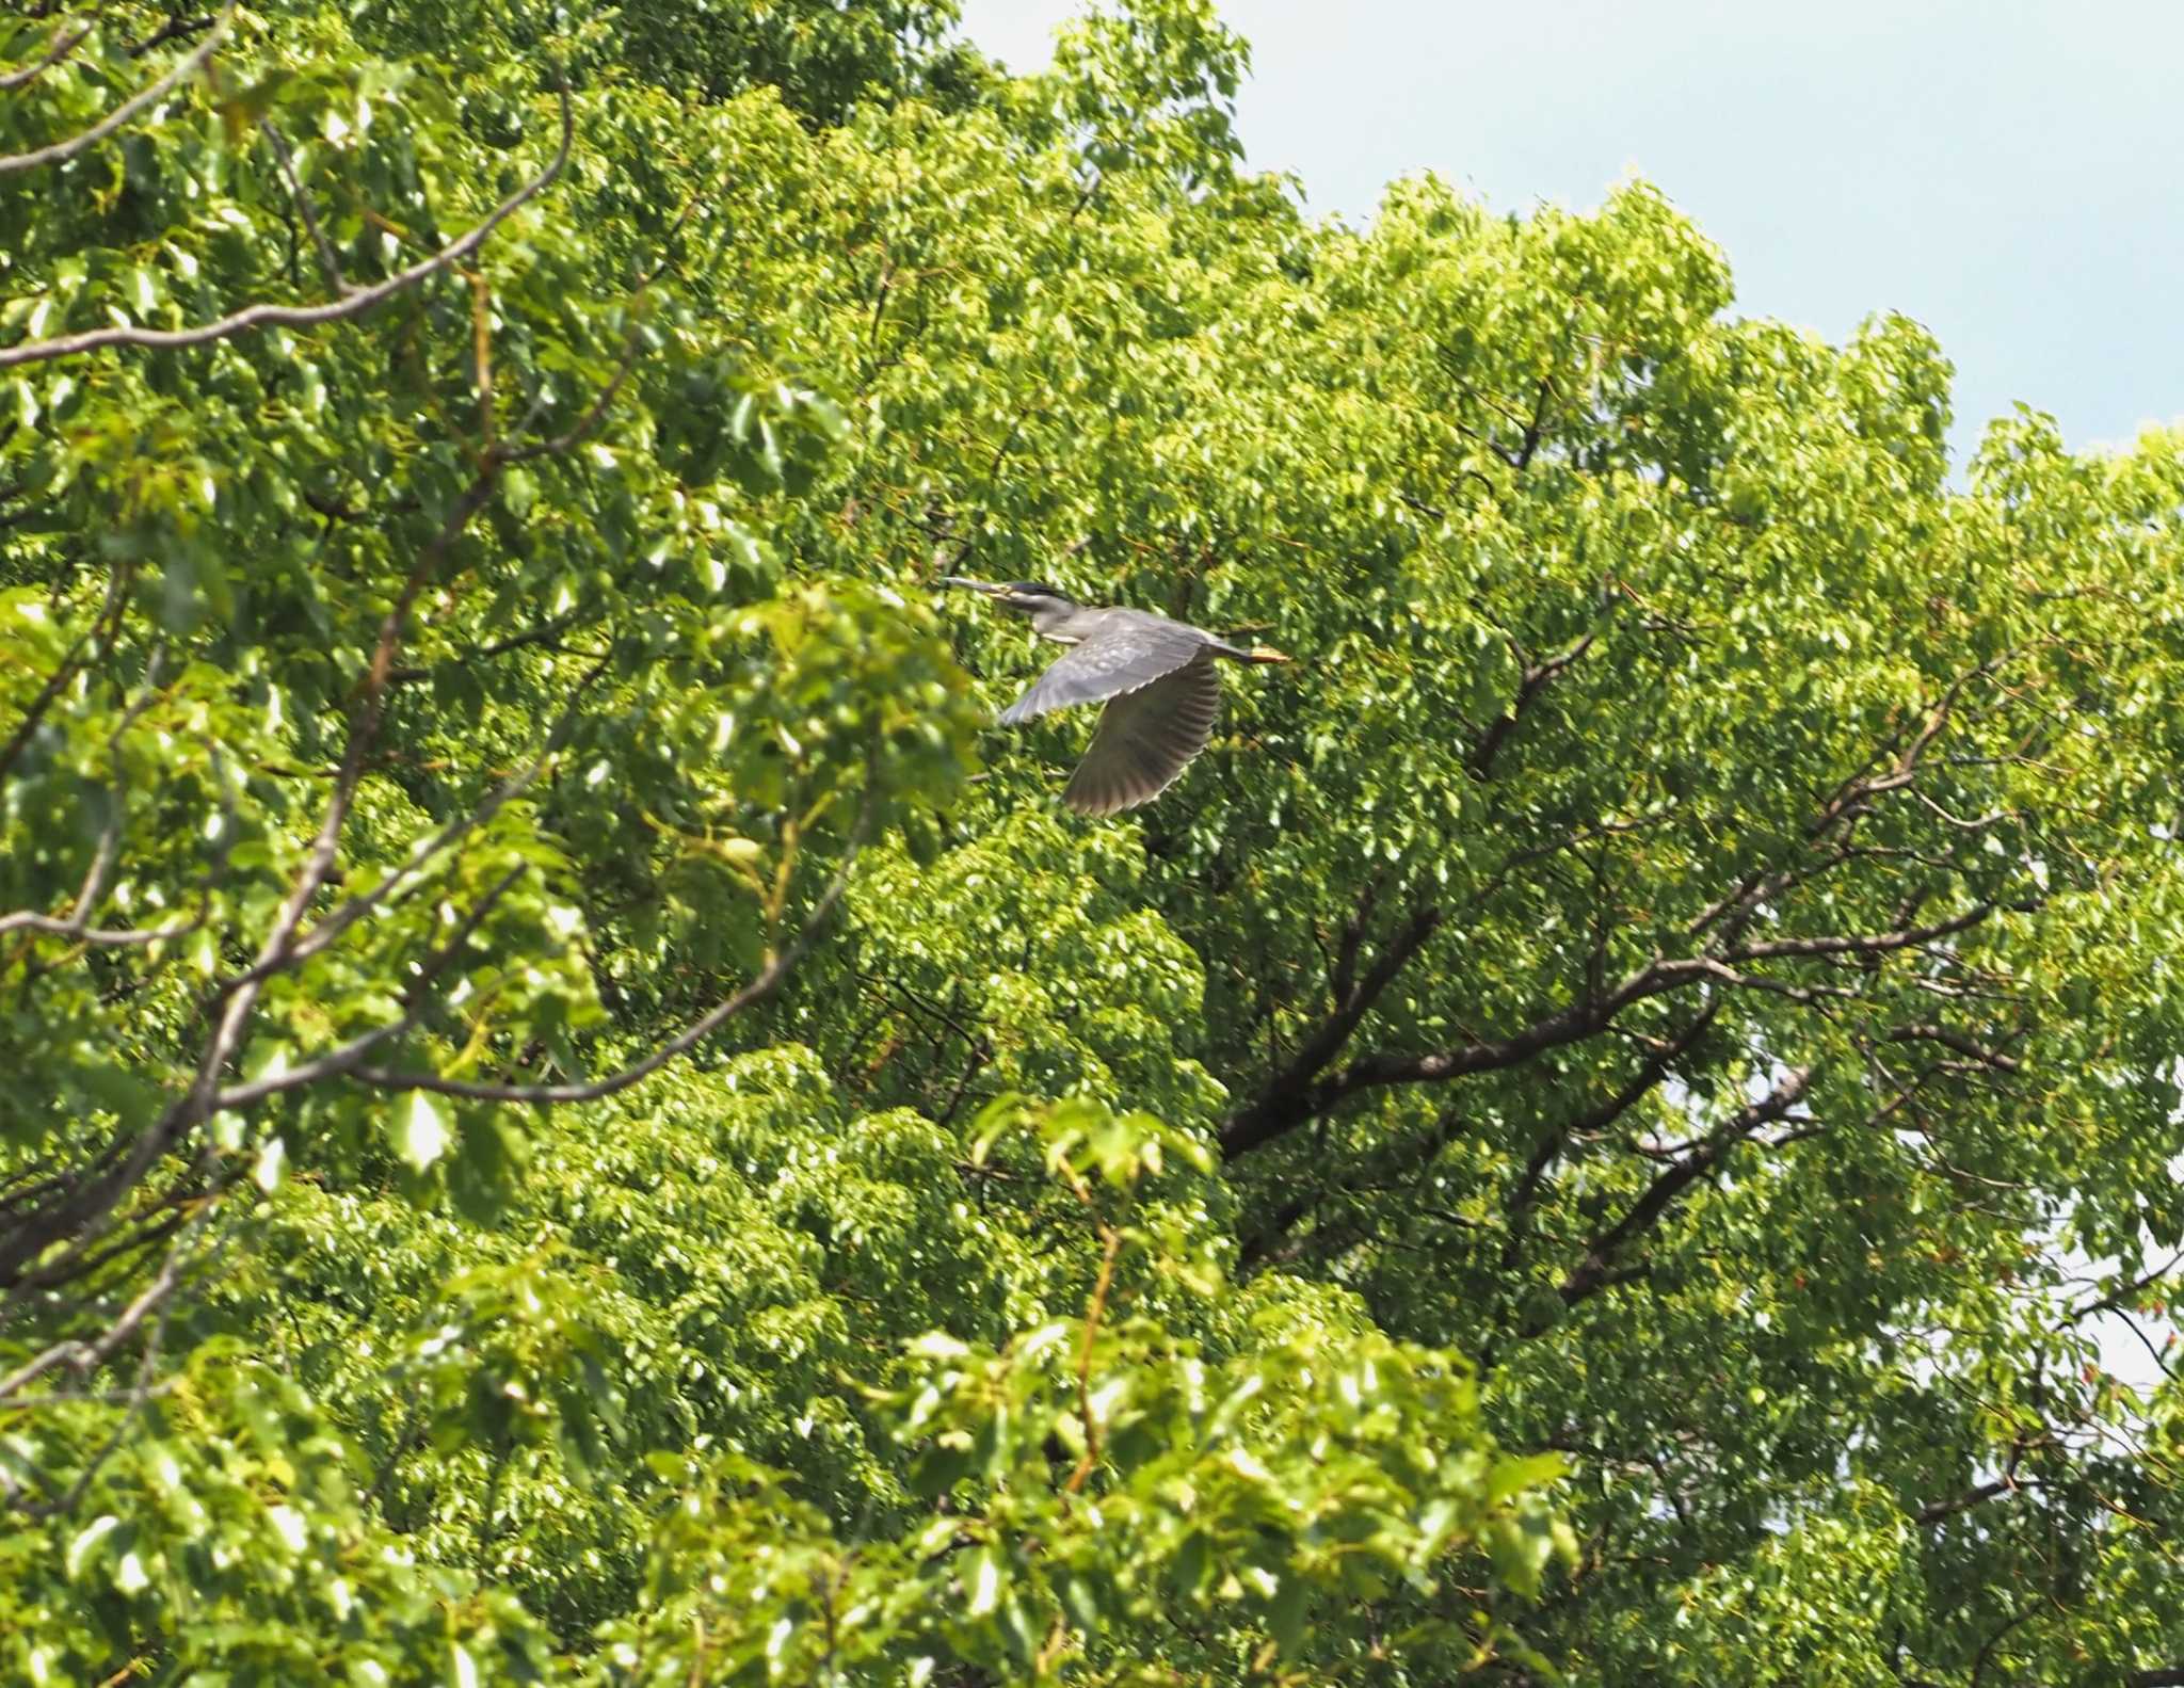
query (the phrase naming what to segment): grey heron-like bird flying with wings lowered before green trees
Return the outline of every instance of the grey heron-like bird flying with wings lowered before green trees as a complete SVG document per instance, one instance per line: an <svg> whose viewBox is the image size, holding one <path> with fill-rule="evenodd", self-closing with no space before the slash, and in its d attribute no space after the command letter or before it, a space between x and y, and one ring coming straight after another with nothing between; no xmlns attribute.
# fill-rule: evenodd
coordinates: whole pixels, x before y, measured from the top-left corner
<svg viewBox="0 0 2184 1688"><path fill-rule="evenodd" d="M1155 616L1149 609L1094 609L1035 581L965 581L943 574L941 585L983 592L1005 609L1031 618L1031 631L1070 646L1000 712L1000 725L1105 703L1099 732L1083 762L1061 790L1079 815L1116 815L1175 784L1214 729L1221 710L1216 662L1289 662L1267 646L1245 649L1203 627Z"/></svg>

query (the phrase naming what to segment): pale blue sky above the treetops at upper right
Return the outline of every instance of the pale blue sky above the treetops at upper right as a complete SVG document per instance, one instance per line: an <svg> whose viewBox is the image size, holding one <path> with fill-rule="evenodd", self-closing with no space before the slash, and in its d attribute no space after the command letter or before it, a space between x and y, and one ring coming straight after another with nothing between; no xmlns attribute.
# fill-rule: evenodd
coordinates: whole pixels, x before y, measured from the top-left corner
<svg viewBox="0 0 2184 1688"><path fill-rule="evenodd" d="M1031 70L1072 0L963 0ZM1959 452L2025 400L2073 445L2184 419L2177 0L1223 0L1238 129L1315 212L1431 168L1498 210L1631 170L1723 245L1738 310L1872 310L1957 365Z"/></svg>

